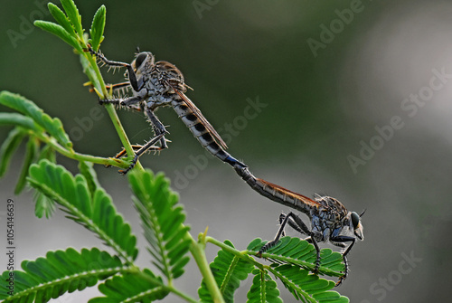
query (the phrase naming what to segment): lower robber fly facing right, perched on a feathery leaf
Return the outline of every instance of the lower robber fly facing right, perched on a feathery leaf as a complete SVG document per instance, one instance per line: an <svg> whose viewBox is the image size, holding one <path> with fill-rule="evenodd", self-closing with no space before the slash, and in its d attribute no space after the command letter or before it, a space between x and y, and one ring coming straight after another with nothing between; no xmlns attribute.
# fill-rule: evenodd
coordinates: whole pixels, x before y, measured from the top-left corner
<svg viewBox="0 0 452 303"><path fill-rule="evenodd" d="M330 241L332 244L342 248L346 247L346 242L350 242L350 245L342 254L345 270L344 275L339 278L336 286L340 285L347 278L347 254L352 249L356 239L364 239L363 224L361 223L361 217L364 212L361 214L348 212L343 204L329 196L316 194L314 200L309 199L303 194L294 193L284 187L255 177L250 173L248 167L236 165L234 169L256 192L279 204L284 204L301 213L305 213L311 221L311 229L309 230L297 214L292 212L287 214L281 213L279 216L280 227L275 239L268 241L259 250L259 255L278 243L281 236L284 236L284 228L287 224L297 232L306 234L308 236L306 240L313 243L317 253L315 272L317 272L320 266L320 249L318 248L317 242Z"/></svg>

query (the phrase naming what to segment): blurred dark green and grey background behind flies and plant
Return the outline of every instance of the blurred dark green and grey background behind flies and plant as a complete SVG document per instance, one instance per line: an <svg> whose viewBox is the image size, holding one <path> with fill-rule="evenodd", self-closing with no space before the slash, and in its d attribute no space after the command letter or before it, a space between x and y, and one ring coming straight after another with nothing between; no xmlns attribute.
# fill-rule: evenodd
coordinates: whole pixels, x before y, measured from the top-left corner
<svg viewBox="0 0 452 303"><path fill-rule="evenodd" d="M0 3L0 90L20 93L61 118L79 152L118 152L120 142L104 109L101 118L90 116L99 105L82 86L87 78L78 56L30 25L34 19L52 20L46 2ZM77 2L85 29L102 4ZM339 292L362 303L448 298L443 292L452 270L447 262L451 1L109 1L106 6L101 49L108 59L131 62L139 46L157 60L173 62L194 89L188 96L254 175L301 194L334 196L349 210L367 209L365 240L349 255L351 273ZM117 82L122 73L106 78ZM259 110L250 102L259 103ZM133 143L151 136L142 114L119 115ZM141 161L173 180L193 234L209 226L213 237L230 239L240 249L255 237L272 239L278 214L287 209L205 156L173 109L157 115L170 126L173 142ZM8 131L0 128L1 141ZM18 208L17 264L48 250L99 245L61 212L51 220L34 218L31 192L14 196L23 154L24 147L0 180L0 214L7 198ZM58 159L76 172L73 161ZM115 168L97 171L140 233L125 178ZM142 237L140 244L145 245ZM216 249L208 249L212 260ZM146 258L142 251L143 266L149 264ZM188 270L177 284L195 296L200 280L193 279L198 277L193 263ZM237 302L246 300L250 283L243 283ZM294 300L281 291L287 302ZM89 289L55 301L86 301L96 293Z"/></svg>

